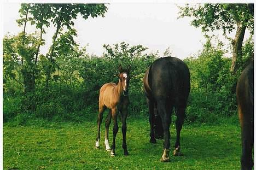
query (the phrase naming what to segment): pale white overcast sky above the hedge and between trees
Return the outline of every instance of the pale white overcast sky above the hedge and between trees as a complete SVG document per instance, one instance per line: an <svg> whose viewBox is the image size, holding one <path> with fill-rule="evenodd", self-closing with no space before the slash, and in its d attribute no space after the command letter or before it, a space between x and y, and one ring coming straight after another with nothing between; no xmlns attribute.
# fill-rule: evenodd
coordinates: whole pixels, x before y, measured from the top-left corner
<svg viewBox="0 0 256 170"><path fill-rule="evenodd" d="M19 3L4 3L4 34L22 31L15 21L19 19L19 8ZM178 11L173 3L112 3L105 17L88 20L79 17L74 21L77 42L81 46L89 44L88 52L96 55L104 52L103 44L126 42L142 44L149 48L147 52L159 50L160 55L170 47L173 56L183 59L201 50L205 38L201 28L190 26L189 17L177 19ZM51 27L43 35L46 40L41 48L43 54L48 51L55 29ZM27 26L27 31L33 32L34 27Z"/></svg>

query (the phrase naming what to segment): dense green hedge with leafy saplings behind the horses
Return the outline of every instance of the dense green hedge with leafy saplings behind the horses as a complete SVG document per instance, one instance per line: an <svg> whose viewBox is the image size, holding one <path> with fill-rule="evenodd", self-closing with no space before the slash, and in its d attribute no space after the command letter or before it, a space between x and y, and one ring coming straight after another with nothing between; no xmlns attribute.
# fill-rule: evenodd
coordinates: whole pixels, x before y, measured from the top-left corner
<svg viewBox="0 0 256 170"><path fill-rule="evenodd" d="M27 34L24 31L16 36L7 35L3 39L4 122L16 120L23 124L28 119L36 118L78 122L94 119L97 115L100 87L108 82L118 82L117 71L120 64L124 68L131 65L129 115L147 118L143 76L150 64L160 57L158 52L148 54L147 48L142 45L121 42L104 44L105 52L102 56L90 55L85 47L75 42L77 33L72 19L80 11L77 10L78 7L90 9L89 13L83 11L85 19L89 14L93 17L103 16L107 8L103 4L78 7L40 5L42 4L22 5L22 16L31 13L34 19L28 16L18 20L21 25L26 20L37 24L37 28L41 30L39 34ZM44 11L44 8L51 9L49 15L36 13ZM61 14L67 15L66 19L70 22L57 22L62 8L73 10L74 13L70 15L64 12ZM55 24L56 32L53 44L44 56L40 54L39 48L44 45L43 28L48 27L50 22ZM236 113L236 81L242 69L252 59L253 40L243 43L243 57L237 60L236 73L230 72L232 61L225 57L226 50L222 43L213 45L211 42L208 37L199 54L184 60L191 74L187 122L212 122L218 116ZM166 49L161 56L168 55L171 55L170 49Z"/></svg>

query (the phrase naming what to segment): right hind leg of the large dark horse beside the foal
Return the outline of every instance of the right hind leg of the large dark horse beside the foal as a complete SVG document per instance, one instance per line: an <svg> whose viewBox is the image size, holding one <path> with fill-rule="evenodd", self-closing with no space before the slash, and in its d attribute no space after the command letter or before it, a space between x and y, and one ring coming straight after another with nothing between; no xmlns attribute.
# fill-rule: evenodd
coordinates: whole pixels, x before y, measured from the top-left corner
<svg viewBox="0 0 256 170"><path fill-rule="evenodd" d="M176 143L174 145L174 151L173 151L173 155L174 156L179 156L181 155L181 143L179 142L179 139L181 137L181 130L182 130L182 125L184 122L184 116L185 116L185 107L179 107L176 108Z"/></svg>

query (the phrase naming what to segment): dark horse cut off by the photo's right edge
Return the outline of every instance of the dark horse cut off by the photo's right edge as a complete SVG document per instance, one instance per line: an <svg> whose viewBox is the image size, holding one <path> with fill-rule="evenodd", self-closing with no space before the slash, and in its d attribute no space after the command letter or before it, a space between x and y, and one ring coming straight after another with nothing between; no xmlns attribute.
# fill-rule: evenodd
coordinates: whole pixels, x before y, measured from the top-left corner
<svg viewBox="0 0 256 170"><path fill-rule="evenodd" d="M241 124L242 156L241 169L252 169L254 138L254 74L253 62L240 75L236 86L238 115Z"/></svg>

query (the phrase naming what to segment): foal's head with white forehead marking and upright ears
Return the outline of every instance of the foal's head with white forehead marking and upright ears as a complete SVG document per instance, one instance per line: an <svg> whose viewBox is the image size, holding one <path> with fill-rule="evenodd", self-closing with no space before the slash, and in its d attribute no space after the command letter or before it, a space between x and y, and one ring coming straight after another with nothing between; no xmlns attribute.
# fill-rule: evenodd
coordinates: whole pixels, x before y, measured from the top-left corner
<svg viewBox="0 0 256 170"><path fill-rule="evenodd" d="M128 87L129 87L129 82L130 82L130 71L131 71L131 66L129 65L128 69L125 70L122 68L121 65L119 65L119 80L123 88L123 95L128 96Z"/></svg>

